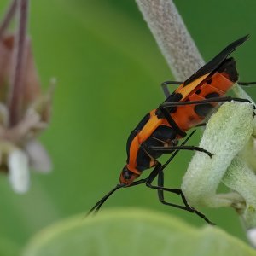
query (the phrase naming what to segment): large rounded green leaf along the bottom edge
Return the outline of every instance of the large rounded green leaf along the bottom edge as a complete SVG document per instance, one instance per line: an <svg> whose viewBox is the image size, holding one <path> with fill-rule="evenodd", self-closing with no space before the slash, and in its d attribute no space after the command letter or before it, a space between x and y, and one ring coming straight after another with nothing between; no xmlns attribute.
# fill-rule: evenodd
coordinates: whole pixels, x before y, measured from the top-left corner
<svg viewBox="0 0 256 256"><path fill-rule="evenodd" d="M196 229L170 215L140 209L69 218L38 233L23 256L256 255L217 227Z"/></svg>

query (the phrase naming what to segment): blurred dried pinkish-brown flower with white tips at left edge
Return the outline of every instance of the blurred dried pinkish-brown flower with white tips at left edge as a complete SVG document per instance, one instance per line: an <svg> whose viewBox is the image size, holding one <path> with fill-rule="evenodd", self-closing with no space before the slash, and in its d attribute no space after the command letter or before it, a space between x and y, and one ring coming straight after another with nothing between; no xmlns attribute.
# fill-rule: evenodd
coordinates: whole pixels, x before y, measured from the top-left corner
<svg viewBox="0 0 256 256"><path fill-rule="evenodd" d="M27 9L27 0L13 1L0 25L0 170L9 173L19 193L28 189L30 166L41 172L51 169L37 137L49 124L53 86L42 93L26 35ZM16 12L17 32L6 32Z"/></svg>

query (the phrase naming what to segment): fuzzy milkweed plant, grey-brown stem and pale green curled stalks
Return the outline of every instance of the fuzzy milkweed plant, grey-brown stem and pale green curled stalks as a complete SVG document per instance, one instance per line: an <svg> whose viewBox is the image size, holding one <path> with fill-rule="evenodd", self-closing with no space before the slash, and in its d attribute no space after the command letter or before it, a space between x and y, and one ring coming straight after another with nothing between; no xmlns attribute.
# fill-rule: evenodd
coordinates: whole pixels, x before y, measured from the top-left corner
<svg viewBox="0 0 256 256"><path fill-rule="evenodd" d="M137 4L175 79L195 73L204 61L174 3L137 0ZM233 207L256 247L255 103L238 84L233 92L252 103L227 102L212 115L200 147L214 155L196 152L181 188L191 207ZM220 183L232 192L217 194Z"/></svg>

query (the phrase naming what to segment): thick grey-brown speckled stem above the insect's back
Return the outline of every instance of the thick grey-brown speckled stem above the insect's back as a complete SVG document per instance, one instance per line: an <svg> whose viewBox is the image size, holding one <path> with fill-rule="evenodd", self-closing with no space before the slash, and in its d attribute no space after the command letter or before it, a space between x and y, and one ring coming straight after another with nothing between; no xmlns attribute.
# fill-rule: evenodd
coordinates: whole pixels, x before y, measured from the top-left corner
<svg viewBox="0 0 256 256"><path fill-rule="evenodd" d="M204 61L172 0L136 0L177 80L187 79Z"/></svg>

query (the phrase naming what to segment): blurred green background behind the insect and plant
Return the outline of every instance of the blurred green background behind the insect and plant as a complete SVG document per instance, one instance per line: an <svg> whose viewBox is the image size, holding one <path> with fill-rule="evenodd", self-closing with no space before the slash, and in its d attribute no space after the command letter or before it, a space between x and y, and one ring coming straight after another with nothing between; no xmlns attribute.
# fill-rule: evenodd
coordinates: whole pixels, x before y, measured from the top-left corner
<svg viewBox="0 0 256 256"><path fill-rule="evenodd" d="M8 1L0 2L3 14ZM247 33L237 50L241 80L255 80L256 3L252 0L175 1L205 60ZM31 189L15 195L0 178L0 236L17 247L38 230L86 212L119 181L125 143L150 109L164 100L160 83L173 79L134 1L37 0L29 32L42 86L58 80L53 117L41 137L54 162L49 175L32 172ZM256 99L256 90L247 92ZM190 141L198 143L201 132ZM179 187L192 154L167 168L166 185ZM178 202L175 196L169 200ZM165 207L144 186L123 189L104 207L143 207L205 224L188 212ZM245 239L232 209L201 209L234 236Z"/></svg>

